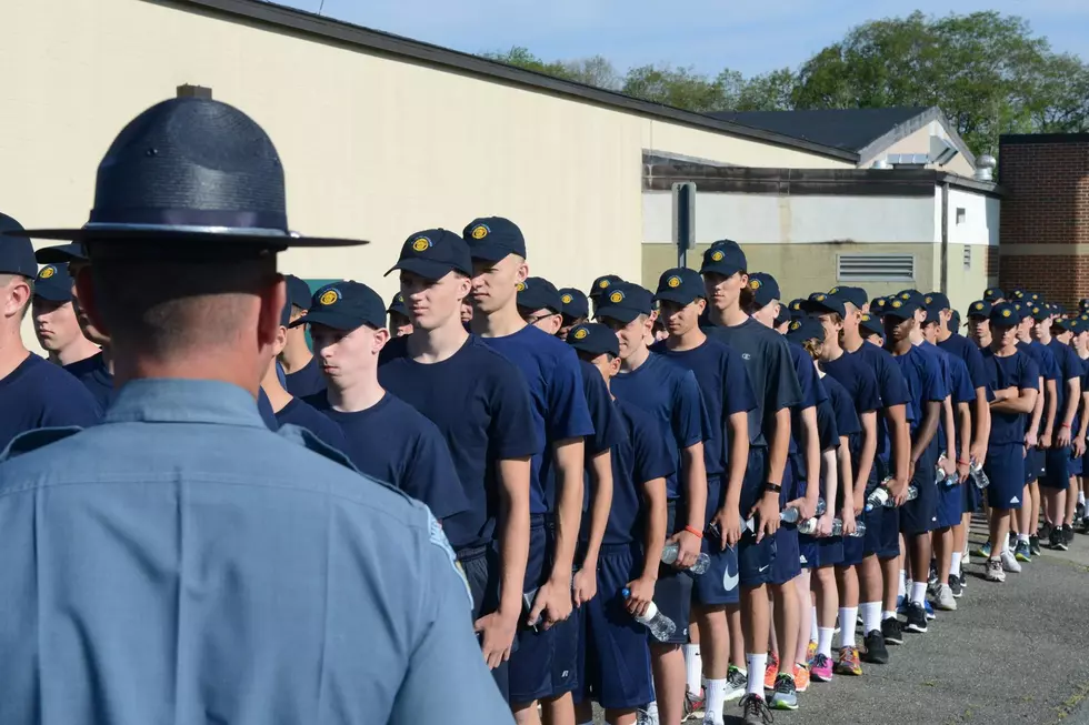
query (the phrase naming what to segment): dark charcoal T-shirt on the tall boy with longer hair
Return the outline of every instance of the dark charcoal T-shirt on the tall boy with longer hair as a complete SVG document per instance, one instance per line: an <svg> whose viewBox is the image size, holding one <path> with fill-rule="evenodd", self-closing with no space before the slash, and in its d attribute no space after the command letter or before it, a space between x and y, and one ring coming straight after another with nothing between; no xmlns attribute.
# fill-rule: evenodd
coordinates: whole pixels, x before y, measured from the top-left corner
<svg viewBox="0 0 1089 725"><path fill-rule="evenodd" d="M776 413L801 401L790 345L778 332L752 318L732 328L707 325L703 332L741 355L756 402L749 411L749 445L767 447L765 427L773 424Z"/></svg>

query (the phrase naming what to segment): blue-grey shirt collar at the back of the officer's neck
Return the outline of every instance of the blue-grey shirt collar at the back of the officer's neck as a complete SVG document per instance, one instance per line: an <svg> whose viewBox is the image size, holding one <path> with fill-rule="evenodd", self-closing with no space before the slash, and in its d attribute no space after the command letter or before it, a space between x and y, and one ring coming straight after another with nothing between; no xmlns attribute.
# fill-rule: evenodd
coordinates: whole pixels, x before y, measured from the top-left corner
<svg viewBox="0 0 1089 725"><path fill-rule="evenodd" d="M248 391L211 380L141 379L126 383L106 412L107 423L219 423L266 427Z"/></svg>

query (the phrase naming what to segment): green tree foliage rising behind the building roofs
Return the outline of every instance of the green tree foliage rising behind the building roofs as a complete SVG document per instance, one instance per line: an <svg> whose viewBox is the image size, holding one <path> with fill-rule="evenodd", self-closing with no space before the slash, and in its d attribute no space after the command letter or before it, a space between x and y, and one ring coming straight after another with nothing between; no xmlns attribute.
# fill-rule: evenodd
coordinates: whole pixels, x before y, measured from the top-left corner
<svg viewBox="0 0 1089 725"><path fill-rule="evenodd" d="M668 64L620 73L600 56L549 62L526 48L486 57L698 113L937 105L976 153L995 153L1001 133L1089 130L1089 64L992 11L875 20L797 70L751 78Z"/></svg>

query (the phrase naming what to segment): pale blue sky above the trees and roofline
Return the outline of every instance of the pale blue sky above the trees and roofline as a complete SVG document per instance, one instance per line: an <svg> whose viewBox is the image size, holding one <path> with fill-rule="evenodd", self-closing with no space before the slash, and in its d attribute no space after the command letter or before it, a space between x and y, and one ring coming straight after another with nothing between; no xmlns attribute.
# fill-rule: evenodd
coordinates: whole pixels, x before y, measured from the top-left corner
<svg viewBox="0 0 1089 725"><path fill-rule="evenodd" d="M321 0L278 0L316 12ZM546 60L601 54L630 66L729 67L755 74L797 67L848 28L937 0L324 0L323 16L482 52L524 46ZM1089 0L961 0L957 11L1021 14L1052 48L1089 60Z"/></svg>

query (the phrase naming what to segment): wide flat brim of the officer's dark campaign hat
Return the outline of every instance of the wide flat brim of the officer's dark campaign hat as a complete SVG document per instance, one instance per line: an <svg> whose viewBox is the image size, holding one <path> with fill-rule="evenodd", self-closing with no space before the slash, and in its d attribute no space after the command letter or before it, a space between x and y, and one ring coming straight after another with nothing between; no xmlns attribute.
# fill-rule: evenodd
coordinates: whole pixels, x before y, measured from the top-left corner
<svg viewBox="0 0 1089 725"><path fill-rule="evenodd" d="M73 242L149 242L186 241L214 243L219 248L289 249L292 246L359 246L370 244L367 240L338 239L330 236L302 236L294 234L249 233L242 231L209 231L206 228L159 226L154 224L96 224L93 229L28 229L18 233L0 232L8 235L31 239L57 239Z"/></svg>

